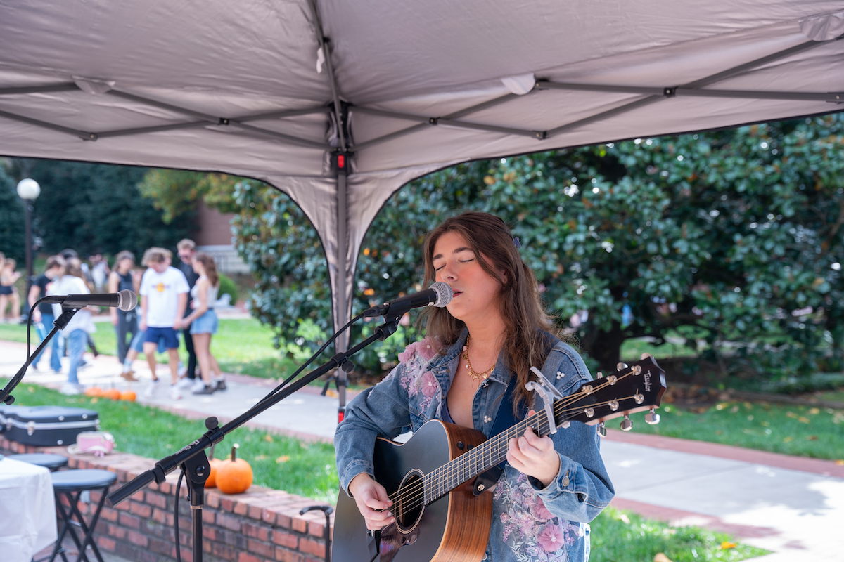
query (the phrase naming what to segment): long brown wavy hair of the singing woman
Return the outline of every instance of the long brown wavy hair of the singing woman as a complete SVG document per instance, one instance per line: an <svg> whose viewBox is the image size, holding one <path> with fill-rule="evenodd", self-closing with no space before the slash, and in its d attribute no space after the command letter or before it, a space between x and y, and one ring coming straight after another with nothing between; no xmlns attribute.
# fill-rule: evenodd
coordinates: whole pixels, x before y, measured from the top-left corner
<svg viewBox="0 0 844 562"><path fill-rule="evenodd" d="M548 332L559 337L553 318L544 311L536 276L527 267L513 240L510 227L495 215L469 211L447 218L425 239L425 286L436 279L433 258L436 241L445 233L463 237L486 273L500 285L499 313L505 324L503 360L517 376L517 413L523 403L530 402L524 385L536 378L531 366L542 367L551 351ZM504 275L501 275L501 271ZM440 346L441 353L459 338L465 324L454 318L447 308L428 307L423 312L427 335Z"/></svg>

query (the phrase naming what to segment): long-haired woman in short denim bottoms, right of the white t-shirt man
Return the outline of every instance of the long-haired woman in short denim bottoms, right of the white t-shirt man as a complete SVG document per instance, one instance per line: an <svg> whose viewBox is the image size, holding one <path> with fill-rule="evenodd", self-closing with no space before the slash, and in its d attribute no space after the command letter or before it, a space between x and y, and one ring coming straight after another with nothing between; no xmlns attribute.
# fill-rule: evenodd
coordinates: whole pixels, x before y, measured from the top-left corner
<svg viewBox="0 0 844 562"><path fill-rule="evenodd" d="M197 352L199 368L202 372L202 388L193 388L194 394L211 394L216 390L225 390L225 380L219 371L219 365L211 355L211 336L217 333L217 313L214 302L217 301L219 275L214 258L198 253L193 256L193 270L199 278L191 289L193 310L185 317L185 325L191 326L193 348Z"/></svg>

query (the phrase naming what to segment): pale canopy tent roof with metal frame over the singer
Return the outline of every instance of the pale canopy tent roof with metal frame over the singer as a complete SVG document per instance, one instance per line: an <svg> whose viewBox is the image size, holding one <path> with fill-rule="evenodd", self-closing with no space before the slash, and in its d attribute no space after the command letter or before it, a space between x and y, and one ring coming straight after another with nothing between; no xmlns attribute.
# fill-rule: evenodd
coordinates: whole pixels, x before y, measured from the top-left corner
<svg viewBox="0 0 844 562"><path fill-rule="evenodd" d="M317 228L341 326L408 180L836 111L842 36L841 0L0 0L0 155L266 181Z"/></svg>

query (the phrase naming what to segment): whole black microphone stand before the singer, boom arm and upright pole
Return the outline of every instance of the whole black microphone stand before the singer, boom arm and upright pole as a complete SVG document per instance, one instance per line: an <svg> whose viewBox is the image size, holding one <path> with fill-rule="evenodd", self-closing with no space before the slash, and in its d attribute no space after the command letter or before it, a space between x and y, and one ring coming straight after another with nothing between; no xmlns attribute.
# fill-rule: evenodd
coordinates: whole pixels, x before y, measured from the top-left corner
<svg viewBox="0 0 844 562"><path fill-rule="evenodd" d="M290 394L295 393L300 388L306 386L306 384L317 380L317 378L321 377L331 369L341 367L344 368L344 370L350 371L350 367L352 366L350 365L351 361L349 361L349 357L364 349L366 346L371 345L375 341L386 340L394 334L398 329L398 319L401 318L405 312L407 312L407 310L404 309L401 311L390 311L389 317L384 317L384 324L378 326L373 335L369 338L362 341L360 344L355 345L352 349L346 351L345 353L338 353L334 355L321 367L317 367L317 369L314 369L305 376L301 377L295 383L291 383L289 387L280 390L278 393L262 399L260 402L252 406L252 408L247 409L246 412L239 415L235 418L235 420L231 420L225 426L219 427L217 418L213 416L209 417L205 420L205 427L208 428L208 431L206 431L203 436L187 445L187 447L182 447L179 451L176 451L169 457L162 458L159 462L155 463L154 468L147 470L143 474L139 474L134 479L130 480L126 484L123 484L117 490L111 492L111 494L106 496L109 505L116 506L116 504L120 503L122 500L127 499L130 495L133 495L138 490L142 490L153 482L156 484L162 484L165 481L167 474L170 474L170 472L175 470L176 467L181 468L181 470L187 475L187 490L190 495L193 532L193 562L202 562L202 510L205 480L208 479L208 473L211 470L211 466L208 463L208 457L205 454L205 449L223 441L226 434L231 431L235 431L235 429L242 426L247 421L252 420L252 418L261 414L264 410L273 406L273 404L277 404L281 400L287 398ZM176 545L176 548L179 548L179 545Z"/></svg>

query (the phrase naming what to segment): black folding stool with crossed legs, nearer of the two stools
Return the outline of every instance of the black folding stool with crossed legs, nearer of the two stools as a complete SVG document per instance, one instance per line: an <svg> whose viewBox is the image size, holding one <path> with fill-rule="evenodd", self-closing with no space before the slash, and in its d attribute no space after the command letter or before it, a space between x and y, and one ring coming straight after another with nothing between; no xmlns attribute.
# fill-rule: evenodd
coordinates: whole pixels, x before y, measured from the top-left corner
<svg viewBox="0 0 844 562"><path fill-rule="evenodd" d="M62 470L61 472L54 472L50 476L53 481L53 491L56 493L56 512L62 517L62 527L58 533L56 546L53 547L49 559L50 562L53 562L56 554L62 554L62 560L68 562L68 558L64 555L64 549L62 549L62 539L66 533L70 533L70 537L73 538L73 542L76 543L79 549L76 562L79 562L79 560L89 562L88 556L85 554L85 549L88 548L89 544L91 545L91 549L94 550L97 560L103 562L100 549L97 548L97 544L94 542L94 529L97 526L97 520L100 518L100 511L102 511L103 504L106 502L108 487L115 483L117 479L116 475L108 470L85 468L80 470ZM82 492L90 490L100 490L101 494L94 516L91 517L91 520L86 525L82 513L79 511L78 501ZM62 506L62 495L65 495L70 502L68 509ZM76 517L76 521L73 521L73 517ZM79 541L79 537L73 526L79 527L84 533L82 541Z"/></svg>

